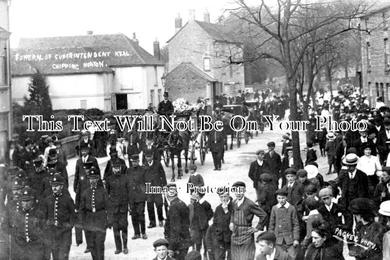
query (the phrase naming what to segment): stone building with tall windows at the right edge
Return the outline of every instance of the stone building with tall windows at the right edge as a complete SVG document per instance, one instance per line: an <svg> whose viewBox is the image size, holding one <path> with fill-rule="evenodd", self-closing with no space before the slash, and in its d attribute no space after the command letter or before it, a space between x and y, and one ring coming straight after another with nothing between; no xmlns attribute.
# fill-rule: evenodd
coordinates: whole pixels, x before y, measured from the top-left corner
<svg viewBox="0 0 390 260"><path fill-rule="evenodd" d="M389 33L390 5L361 18L361 62L363 94L371 106L377 97L390 105Z"/></svg>

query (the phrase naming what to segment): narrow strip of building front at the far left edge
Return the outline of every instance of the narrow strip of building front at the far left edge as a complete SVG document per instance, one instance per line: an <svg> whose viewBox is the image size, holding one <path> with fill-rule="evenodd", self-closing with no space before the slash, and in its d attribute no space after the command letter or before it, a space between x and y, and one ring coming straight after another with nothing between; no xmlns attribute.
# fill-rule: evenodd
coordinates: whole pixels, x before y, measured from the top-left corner
<svg viewBox="0 0 390 260"><path fill-rule="evenodd" d="M0 163L12 138L10 35L8 1L0 0Z"/></svg>

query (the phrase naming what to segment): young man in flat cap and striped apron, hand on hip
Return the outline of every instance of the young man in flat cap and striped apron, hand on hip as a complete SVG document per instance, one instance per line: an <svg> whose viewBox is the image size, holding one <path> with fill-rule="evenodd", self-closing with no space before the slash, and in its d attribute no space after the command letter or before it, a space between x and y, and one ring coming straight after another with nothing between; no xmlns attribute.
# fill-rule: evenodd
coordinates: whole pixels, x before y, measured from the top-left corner
<svg viewBox="0 0 390 260"><path fill-rule="evenodd" d="M231 239L232 259L252 260L255 257L255 232L263 230L267 223L267 213L255 202L245 197L245 183L235 182L236 200L233 201L233 212L229 228L233 232ZM232 187L232 188L233 188ZM254 216L259 217L256 227L252 227Z"/></svg>

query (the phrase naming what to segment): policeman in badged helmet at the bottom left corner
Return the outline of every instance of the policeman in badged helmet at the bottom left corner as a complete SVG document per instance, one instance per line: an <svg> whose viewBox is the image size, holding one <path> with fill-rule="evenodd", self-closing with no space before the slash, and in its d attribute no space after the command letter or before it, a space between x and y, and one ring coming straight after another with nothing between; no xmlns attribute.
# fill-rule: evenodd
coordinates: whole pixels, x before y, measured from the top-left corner
<svg viewBox="0 0 390 260"><path fill-rule="evenodd" d="M24 187L21 193L21 209L2 223L6 233L11 234L11 259L50 259L44 240L43 212L33 206L34 195L30 187Z"/></svg>

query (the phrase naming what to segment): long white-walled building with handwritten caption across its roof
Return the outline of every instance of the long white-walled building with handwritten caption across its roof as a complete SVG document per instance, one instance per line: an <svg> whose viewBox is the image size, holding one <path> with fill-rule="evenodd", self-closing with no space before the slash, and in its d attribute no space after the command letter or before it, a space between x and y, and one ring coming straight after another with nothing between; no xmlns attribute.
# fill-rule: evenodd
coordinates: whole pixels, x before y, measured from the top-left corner
<svg viewBox="0 0 390 260"><path fill-rule="evenodd" d="M23 104L30 77L39 70L53 109L146 109L163 99L159 44L154 56L123 34L22 38L13 50L13 100Z"/></svg>

